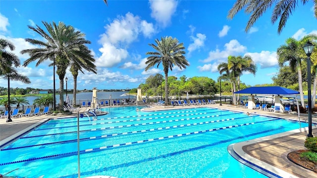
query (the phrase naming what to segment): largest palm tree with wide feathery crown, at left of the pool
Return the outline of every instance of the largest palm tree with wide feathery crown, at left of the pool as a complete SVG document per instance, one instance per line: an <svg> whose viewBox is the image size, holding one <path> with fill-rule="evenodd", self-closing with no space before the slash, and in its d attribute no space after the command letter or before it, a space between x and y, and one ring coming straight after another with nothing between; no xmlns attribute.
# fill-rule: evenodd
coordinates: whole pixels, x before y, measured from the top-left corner
<svg viewBox="0 0 317 178"><path fill-rule="evenodd" d="M38 47L24 49L21 51L22 54L27 53L30 55L30 58L24 61L23 66L27 66L36 60L38 60L36 66L47 59L53 61L53 63L49 66L56 65L57 67L56 74L59 77L60 91L59 110L63 110L63 86L66 69L72 61L84 61L84 59L87 57L86 53L88 50L81 51L80 49L83 48L83 45L90 44L91 42L84 39L85 34L75 31L72 26L66 26L63 22L59 22L58 25L56 25L55 22L51 24L43 21L42 23L46 27L48 33L38 25L36 28L28 26L29 29L41 35L45 41L25 39L25 41Z"/></svg>

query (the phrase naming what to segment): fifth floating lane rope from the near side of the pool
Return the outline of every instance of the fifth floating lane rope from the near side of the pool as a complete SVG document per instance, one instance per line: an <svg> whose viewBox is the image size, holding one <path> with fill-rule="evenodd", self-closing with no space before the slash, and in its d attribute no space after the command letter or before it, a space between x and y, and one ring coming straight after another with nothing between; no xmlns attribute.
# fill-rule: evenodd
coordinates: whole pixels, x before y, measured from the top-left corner
<svg viewBox="0 0 317 178"><path fill-rule="evenodd" d="M194 110L194 111L178 111L178 112L169 112L169 113L159 113L159 114L145 114L145 115L134 115L134 116L122 116L122 117L113 117L113 118L106 118L106 119L99 119L99 120L111 120L111 119L123 119L123 118L135 118L135 117L145 117L145 116L157 116L157 115L163 115L163 114L178 114L178 113L190 113L190 112L201 112L201 111L210 111L210 110L216 110L208 113L215 113L215 112L221 112L222 110L218 109L204 109L204 110ZM80 120L80 122L88 122L89 120ZM65 123L77 123L77 121L67 121L67 122L59 122L59 123L46 123L44 125L51 125L51 124L65 124Z"/></svg>

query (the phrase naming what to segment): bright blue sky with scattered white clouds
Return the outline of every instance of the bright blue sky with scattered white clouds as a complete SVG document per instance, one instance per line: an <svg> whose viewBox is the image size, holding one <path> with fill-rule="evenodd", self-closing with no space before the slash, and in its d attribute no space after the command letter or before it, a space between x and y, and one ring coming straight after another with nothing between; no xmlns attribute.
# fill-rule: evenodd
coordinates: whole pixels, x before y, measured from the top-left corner
<svg viewBox="0 0 317 178"><path fill-rule="evenodd" d="M226 62L228 55L252 56L258 66L256 76L245 73L241 80L247 85L272 83L278 71L276 49L290 37L301 39L310 33L317 34L317 19L313 2L299 4L290 16L282 33L277 23L271 24L271 9L246 33L249 16L243 11L232 20L226 18L234 0L1 0L0 38L11 41L13 51L23 63L28 55L22 49L33 47L25 38L41 39L27 28L42 21L64 22L71 25L91 41L88 47L96 59L98 74L85 71L77 78L77 89L137 88L150 75L163 74L162 67L145 71L146 52L153 51L148 44L155 39L171 36L184 43L190 66L169 71L169 76L187 78L207 76L216 80L217 65ZM53 67L35 62L18 71L31 80L31 84L12 81L12 88L53 89ZM67 70L68 89L73 77ZM65 85L65 84L64 84ZM7 82L0 79L0 86ZM56 75L56 89L59 80Z"/></svg>

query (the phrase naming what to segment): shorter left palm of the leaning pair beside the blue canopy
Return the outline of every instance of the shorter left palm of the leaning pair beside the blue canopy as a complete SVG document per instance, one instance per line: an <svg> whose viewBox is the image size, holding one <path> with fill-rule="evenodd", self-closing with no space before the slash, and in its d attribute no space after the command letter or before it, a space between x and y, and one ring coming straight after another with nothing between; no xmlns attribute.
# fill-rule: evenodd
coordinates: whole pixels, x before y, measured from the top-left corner
<svg viewBox="0 0 317 178"><path fill-rule="evenodd" d="M235 97L235 89L236 89L236 78L234 77L234 74L232 71L228 68L228 63L222 62L217 67L219 74L221 75L221 79L227 79L230 81L231 85L231 92L232 92L232 101L233 103L236 103L236 97Z"/></svg>

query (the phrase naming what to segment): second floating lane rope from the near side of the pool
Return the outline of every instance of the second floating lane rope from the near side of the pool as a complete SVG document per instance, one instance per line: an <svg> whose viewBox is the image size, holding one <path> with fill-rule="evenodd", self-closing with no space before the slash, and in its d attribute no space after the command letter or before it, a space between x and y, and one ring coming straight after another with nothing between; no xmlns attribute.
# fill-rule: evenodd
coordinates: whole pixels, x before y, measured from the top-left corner
<svg viewBox="0 0 317 178"><path fill-rule="evenodd" d="M250 117L255 117L255 116L250 116ZM165 129L174 129L174 128L181 128L181 127L187 127L187 126L197 126L197 125L203 125L203 124L212 124L212 123L233 121L233 120L239 120L239 119L250 118L250 117L246 116L246 117L240 117L240 118L222 119L222 120L216 120L216 121L206 121L206 122L200 122L200 123L183 124L183 125L178 125L178 126L167 126L167 127L162 127L162 128L146 129L146 130L139 130L139 131L130 131L130 132L125 132L125 133L106 134L106 135L100 135L100 136L90 136L90 137L86 137L86 138L80 138L80 140L98 139L98 138L106 138L106 137L117 136L117 135L145 133L145 132L159 131L159 130L165 130ZM42 146L42 145L56 144L56 143L67 143L67 142L74 142L74 141L77 141L77 139L56 141L56 142L50 142L50 143L41 143L41 144L27 145L27 146L19 146L19 147L11 147L11 148L3 148L3 149L1 149L1 151L11 150L11 149L19 149L19 148L27 148L27 147L33 147L33 146Z"/></svg>

